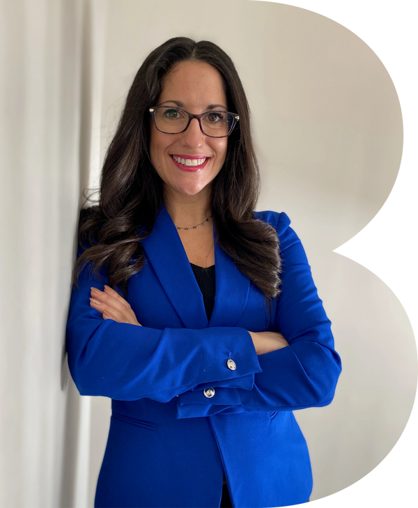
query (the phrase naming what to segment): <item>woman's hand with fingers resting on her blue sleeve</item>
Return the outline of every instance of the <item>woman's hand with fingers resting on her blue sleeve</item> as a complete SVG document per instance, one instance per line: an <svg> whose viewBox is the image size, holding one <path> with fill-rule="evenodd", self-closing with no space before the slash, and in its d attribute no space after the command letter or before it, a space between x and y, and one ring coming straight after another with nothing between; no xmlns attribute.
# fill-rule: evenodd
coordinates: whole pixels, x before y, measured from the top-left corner
<svg viewBox="0 0 418 508"><path fill-rule="evenodd" d="M118 323L142 326L138 323L137 316L125 298L122 298L109 286L105 285L104 291L91 288L90 305L102 313L103 319L113 319Z"/></svg>

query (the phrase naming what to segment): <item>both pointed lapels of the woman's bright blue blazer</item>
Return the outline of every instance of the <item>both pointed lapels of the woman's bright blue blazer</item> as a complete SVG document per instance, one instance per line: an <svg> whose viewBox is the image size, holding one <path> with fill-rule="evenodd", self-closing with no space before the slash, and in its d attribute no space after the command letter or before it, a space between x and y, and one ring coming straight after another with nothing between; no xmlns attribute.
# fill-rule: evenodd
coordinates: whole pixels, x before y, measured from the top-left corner
<svg viewBox="0 0 418 508"><path fill-rule="evenodd" d="M155 274L185 328L234 326L247 304L250 281L233 260L215 243L215 305L208 322L203 295L176 226L162 203L153 231L142 240Z"/></svg>

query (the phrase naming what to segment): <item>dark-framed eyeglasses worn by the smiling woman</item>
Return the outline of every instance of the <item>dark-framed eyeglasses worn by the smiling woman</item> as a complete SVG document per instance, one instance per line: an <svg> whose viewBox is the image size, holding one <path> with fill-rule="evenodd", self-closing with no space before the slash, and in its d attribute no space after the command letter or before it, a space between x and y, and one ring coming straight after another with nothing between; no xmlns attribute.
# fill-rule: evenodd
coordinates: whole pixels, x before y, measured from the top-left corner
<svg viewBox="0 0 418 508"><path fill-rule="evenodd" d="M165 134L185 132L193 118L197 118L201 132L209 137L226 137L231 134L240 117L229 111L207 111L193 115L184 109L173 106L154 106L149 108L155 128Z"/></svg>

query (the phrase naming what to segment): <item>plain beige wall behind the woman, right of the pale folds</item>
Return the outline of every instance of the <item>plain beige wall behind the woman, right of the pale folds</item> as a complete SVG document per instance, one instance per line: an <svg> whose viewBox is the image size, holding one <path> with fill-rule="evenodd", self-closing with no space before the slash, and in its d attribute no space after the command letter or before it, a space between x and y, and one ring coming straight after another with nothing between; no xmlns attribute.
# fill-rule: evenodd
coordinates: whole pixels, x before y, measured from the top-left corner
<svg viewBox="0 0 418 508"><path fill-rule="evenodd" d="M348 491L391 456L417 402L417 336L401 295L339 252L378 218L401 175L405 118L396 77L379 48L344 20L295 3L108 5L101 161L134 75L155 47L175 36L211 40L235 63L261 169L256 209L291 218L343 362L333 403L295 412L311 454L311 502ZM93 398L91 415L93 503L109 399Z"/></svg>

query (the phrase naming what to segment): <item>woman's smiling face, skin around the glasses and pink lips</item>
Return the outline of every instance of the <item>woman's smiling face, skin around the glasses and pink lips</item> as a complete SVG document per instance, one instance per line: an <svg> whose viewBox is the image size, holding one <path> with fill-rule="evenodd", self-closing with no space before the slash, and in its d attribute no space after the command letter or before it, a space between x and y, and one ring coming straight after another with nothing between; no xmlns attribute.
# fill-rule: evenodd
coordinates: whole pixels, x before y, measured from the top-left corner
<svg viewBox="0 0 418 508"><path fill-rule="evenodd" d="M222 77L204 62L176 64L165 76L162 93L155 105L180 107L192 114L210 111L209 105L216 105L211 108L214 110L228 111ZM184 201L185 196L200 193L198 197L208 198L210 183L224 164L227 145L228 137L213 138L203 134L197 118L193 118L187 130L180 134L160 132L150 118L150 158L168 197ZM173 155L209 158L202 169L191 172L180 169L173 161Z"/></svg>

